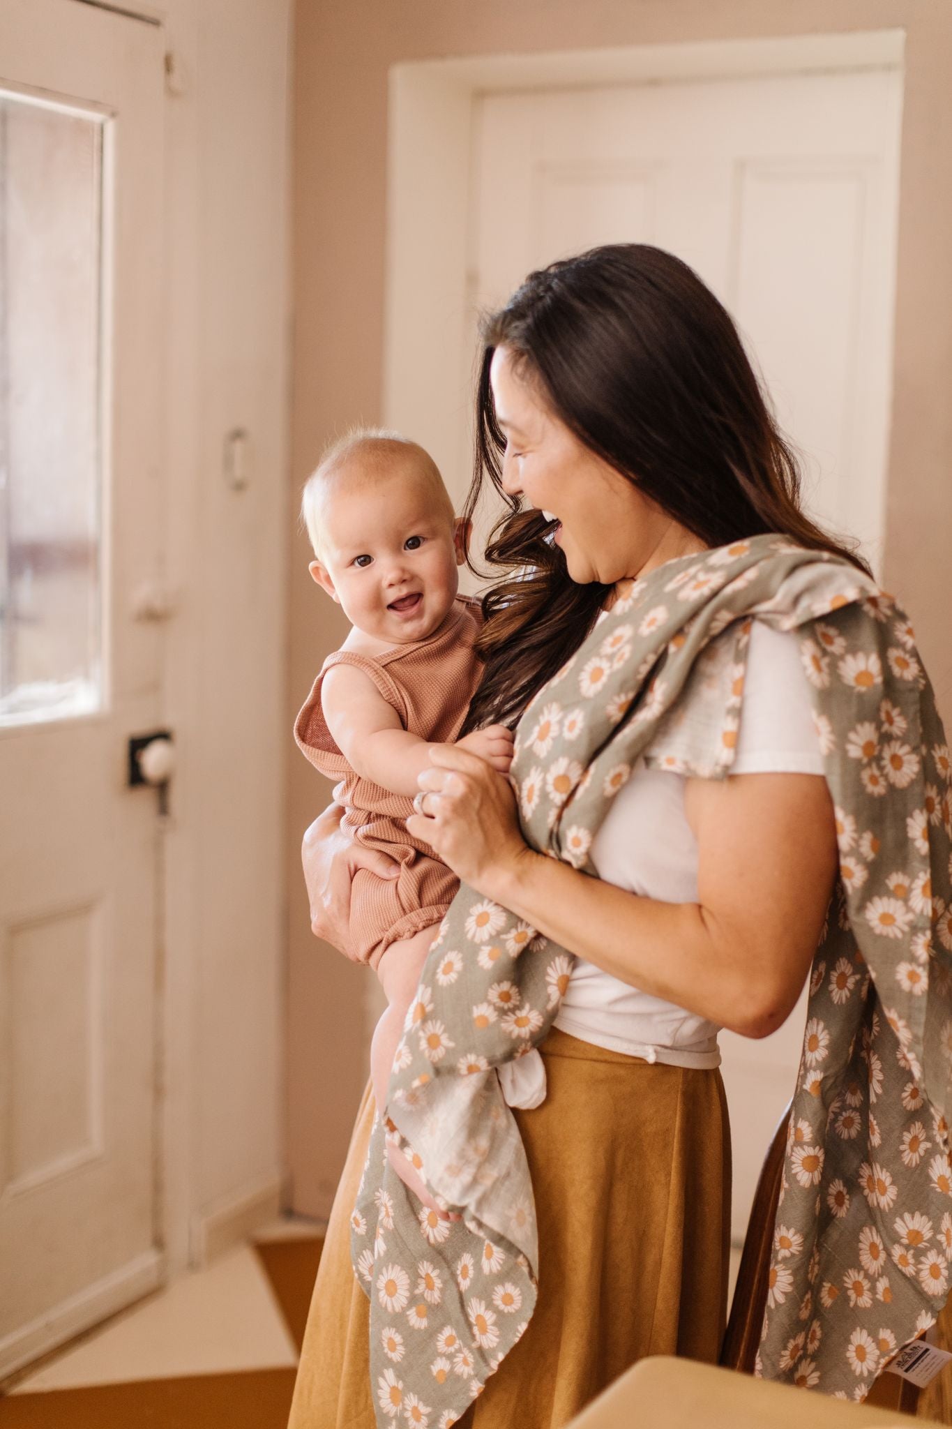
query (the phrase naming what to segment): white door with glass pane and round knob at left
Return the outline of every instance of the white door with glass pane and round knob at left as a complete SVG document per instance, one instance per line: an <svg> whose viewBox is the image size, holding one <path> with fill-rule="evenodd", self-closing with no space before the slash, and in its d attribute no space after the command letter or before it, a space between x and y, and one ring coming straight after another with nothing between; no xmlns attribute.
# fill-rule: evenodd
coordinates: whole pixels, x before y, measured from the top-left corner
<svg viewBox="0 0 952 1429"><path fill-rule="evenodd" d="M161 1279L163 54L0 9L0 1373Z"/></svg>

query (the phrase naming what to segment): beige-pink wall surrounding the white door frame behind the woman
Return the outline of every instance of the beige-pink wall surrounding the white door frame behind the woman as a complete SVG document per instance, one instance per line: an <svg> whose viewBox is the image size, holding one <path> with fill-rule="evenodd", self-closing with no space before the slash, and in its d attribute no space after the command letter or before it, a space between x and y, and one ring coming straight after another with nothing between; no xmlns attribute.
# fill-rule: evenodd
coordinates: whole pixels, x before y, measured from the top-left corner
<svg viewBox="0 0 952 1429"><path fill-rule="evenodd" d="M454 54L905 27L906 99L886 583L901 592L952 717L952 6L938 0L297 0L294 407L300 487L341 424L381 406L387 71ZM291 542L288 722L340 626ZM288 1159L294 1203L330 1208L365 1080L370 975L310 935L300 836L327 785L288 755Z"/></svg>

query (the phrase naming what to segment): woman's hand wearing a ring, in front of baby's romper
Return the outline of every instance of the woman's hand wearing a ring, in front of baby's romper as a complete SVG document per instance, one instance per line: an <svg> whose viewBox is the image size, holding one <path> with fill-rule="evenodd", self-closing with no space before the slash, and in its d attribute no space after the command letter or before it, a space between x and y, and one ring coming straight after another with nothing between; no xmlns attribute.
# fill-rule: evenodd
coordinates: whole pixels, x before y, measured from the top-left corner
<svg viewBox="0 0 952 1429"><path fill-rule="evenodd" d="M415 813L407 819L414 839L425 840L452 872L478 893L494 887L531 855L508 779L458 745L434 745L432 767L417 780Z"/></svg>

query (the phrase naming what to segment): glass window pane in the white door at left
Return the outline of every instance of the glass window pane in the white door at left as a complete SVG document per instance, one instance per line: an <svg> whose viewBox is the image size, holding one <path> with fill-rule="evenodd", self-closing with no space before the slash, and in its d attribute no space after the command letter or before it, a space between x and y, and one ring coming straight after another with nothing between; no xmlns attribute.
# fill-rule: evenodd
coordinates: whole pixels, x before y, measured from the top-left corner
<svg viewBox="0 0 952 1429"><path fill-rule="evenodd" d="M0 93L0 725L101 703L103 126Z"/></svg>

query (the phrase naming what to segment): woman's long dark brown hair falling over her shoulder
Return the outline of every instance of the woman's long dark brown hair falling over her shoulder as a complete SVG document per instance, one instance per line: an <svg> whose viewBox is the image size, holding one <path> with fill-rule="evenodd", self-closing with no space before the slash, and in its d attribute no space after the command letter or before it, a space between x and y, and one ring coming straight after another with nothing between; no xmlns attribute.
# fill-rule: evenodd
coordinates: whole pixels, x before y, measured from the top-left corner
<svg viewBox="0 0 952 1429"><path fill-rule="evenodd" d="M551 522L502 492L505 437L490 386L497 347L514 354L517 370L589 450L707 546L779 532L868 570L801 510L796 457L731 317L671 253L618 243L552 263L484 319L481 336L465 516L488 477L510 510L485 559L508 576L482 597L477 650L485 673L465 730L512 725L582 643L608 592L575 584L559 547L545 540Z"/></svg>

